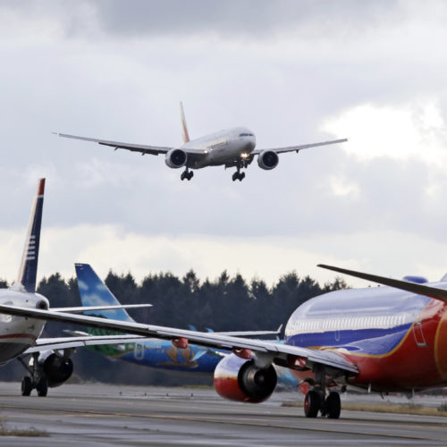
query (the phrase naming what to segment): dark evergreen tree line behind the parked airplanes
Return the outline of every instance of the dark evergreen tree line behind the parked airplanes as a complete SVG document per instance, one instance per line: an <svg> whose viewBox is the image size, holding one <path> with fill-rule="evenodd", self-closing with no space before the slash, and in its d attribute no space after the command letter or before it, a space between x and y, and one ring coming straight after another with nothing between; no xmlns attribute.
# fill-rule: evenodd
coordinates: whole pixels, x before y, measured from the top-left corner
<svg viewBox="0 0 447 447"><path fill-rule="evenodd" d="M285 325L291 313L306 300L328 291L347 288L340 278L320 284L309 276L299 277L295 271L284 274L273 286L253 278L247 282L241 274L230 276L226 271L214 280L201 282L190 270L183 277L172 273L148 274L137 283L131 273L115 274L109 271L105 284L122 304L150 303L152 308L129 310L139 323L170 325L199 331L274 330ZM7 283L0 281L0 286ZM52 274L38 283L38 293L50 301L52 308L80 306L78 283L75 278L63 279ZM46 323L42 336L69 336L67 329L84 330L77 325ZM84 348L73 355L75 377L81 380L101 380L130 384L203 383L202 377L166 374L148 367L103 358ZM13 361L0 368L0 380L20 380L24 369ZM210 379L205 379L209 383Z"/></svg>

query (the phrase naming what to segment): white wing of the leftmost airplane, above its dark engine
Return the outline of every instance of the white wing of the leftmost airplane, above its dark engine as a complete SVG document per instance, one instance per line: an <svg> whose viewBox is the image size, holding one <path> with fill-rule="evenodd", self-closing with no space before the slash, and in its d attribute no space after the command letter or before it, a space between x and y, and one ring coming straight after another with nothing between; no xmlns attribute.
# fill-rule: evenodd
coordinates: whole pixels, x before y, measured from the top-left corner
<svg viewBox="0 0 447 447"><path fill-rule="evenodd" d="M42 350L67 350L81 346L97 346L102 344L120 344L147 340L139 335L88 335L80 337L39 338L36 345L25 350L21 356Z"/></svg>

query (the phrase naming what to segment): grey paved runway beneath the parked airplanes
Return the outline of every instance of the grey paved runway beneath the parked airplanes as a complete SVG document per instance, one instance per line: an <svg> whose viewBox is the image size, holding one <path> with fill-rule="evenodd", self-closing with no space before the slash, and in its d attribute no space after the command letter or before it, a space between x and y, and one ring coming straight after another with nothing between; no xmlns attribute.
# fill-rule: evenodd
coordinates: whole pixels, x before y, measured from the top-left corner
<svg viewBox="0 0 447 447"><path fill-rule="evenodd" d="M46 398L19 391L20 384L0 384L2 425L49 437L0 437L12 446L447 444L445 417L342 411L339 420L308 419L281 406L291 398L284 392L249 405L209 389L70 384Z"/></svg>

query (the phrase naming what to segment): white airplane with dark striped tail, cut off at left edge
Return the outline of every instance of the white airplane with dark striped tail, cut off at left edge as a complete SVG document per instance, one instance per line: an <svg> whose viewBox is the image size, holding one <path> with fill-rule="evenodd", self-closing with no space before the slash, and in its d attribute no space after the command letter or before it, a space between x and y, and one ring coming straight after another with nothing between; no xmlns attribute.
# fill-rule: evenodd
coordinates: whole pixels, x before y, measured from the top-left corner
<svg viewBox="0 0 447 447"><path fill-rule="evenodd" d="M40 226L44 202L45 179L38 181L38 190L30 215L25 247L21 257L21 268L11 288L0 289L0 303L19 306L21 308L48 309L49 301L43 295L36 293L36 276L38 271L38 249L40 242ZM90 307L89 309L114 309L147 307L148 305L131 306L106 306ZM84 312L85 307L80 308L53 308L57 313ZM0 316L0 365L13 358L18 358L30 375L23 377L21 392L29 395L36 388L39 396L45 396L48 386L54 387L63 384L73 370L73 348L86 346L91 343L117 343L127 340L135 340L135 336L87 336L87 337L63 337L63 338L38 338L44 328L45 321L21 316ZM26 365L23 357L32 355L30 365Z"/></svg>

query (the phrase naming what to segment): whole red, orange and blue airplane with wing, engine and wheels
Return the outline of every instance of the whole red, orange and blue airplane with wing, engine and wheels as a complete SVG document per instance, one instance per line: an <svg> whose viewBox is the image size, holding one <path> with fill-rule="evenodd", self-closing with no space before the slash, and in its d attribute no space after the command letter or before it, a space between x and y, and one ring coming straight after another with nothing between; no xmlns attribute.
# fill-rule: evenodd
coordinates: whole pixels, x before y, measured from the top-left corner
<svg viewBox="0 0 447 447"><path fill-rule="evenodd" d="M215 389L235 401L265 401L276 386L274 365L289 367L308 385L307 417L340 417L336 390L348 386L370 392L417 392L447 385L447 277L422 283L418 278L393 280L323 267L385 287L332 291L309 299L291 315L284 344L72 315L20 302L4 303L0 312L155 337L183 348L195 343L231 350L215 368Z"/></svg>

